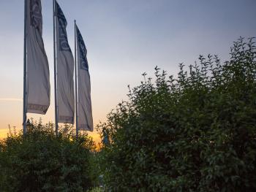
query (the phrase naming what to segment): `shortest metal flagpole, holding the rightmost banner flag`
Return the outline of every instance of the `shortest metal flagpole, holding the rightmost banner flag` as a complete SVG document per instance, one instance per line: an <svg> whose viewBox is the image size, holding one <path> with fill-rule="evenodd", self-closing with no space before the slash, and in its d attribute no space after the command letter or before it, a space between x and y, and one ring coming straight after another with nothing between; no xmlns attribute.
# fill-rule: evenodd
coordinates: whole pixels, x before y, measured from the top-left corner
<svg viewBox="0 0 256 192"><path fill-rule="evenodd" d="M77 69L77 29L75 21L75 135L78 137L78 69Z"/></svg>

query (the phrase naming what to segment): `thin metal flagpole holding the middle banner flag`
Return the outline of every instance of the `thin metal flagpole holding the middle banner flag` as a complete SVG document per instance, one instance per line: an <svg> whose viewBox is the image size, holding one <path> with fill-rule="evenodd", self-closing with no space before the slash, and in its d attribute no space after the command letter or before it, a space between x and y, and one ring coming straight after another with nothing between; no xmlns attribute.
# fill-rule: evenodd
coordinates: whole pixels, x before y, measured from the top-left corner
<svg viewBox="0 0 256 192"><path fill-rule="evenodd" d="M57 101L57 66L56 66L56 18L55 18L55 5L53 0L53 56L54 56L54 101L55 101L55 131L58 135L58 101Z"/></svg>

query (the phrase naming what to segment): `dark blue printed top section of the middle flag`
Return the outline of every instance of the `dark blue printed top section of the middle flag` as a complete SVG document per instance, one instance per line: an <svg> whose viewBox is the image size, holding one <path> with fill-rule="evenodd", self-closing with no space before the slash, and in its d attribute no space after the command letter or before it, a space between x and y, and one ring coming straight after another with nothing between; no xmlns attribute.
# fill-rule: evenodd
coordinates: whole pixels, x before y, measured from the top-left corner
<svg viewBox="0 0 256 192"><path fill-rule="evenodd" d="M59 21L59 48L60 50L65 50L71 52L71 49L69 47L69 42L67 40L67 20L64 16L64 13L61 10L61 7L59 7L59 4L56 2L57 5L57 18Z"/></svg>

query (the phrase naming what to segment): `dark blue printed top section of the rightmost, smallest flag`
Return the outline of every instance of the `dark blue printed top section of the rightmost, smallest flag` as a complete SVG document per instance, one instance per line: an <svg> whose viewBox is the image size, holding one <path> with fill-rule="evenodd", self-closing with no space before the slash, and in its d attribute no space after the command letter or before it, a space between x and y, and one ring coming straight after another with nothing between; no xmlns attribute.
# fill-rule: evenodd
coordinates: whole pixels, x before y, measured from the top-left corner
<svg viewBox="0 0 256 192"><path fill-rule="evenodd" d="M80 34L79 29L77 28L78 31L78 46L79 46L79 53L80 53L80 68L84 70L89 70L88 66L88 61L87 61L87 50L86 50L86 45L83 42L83 37Z"/></svg>

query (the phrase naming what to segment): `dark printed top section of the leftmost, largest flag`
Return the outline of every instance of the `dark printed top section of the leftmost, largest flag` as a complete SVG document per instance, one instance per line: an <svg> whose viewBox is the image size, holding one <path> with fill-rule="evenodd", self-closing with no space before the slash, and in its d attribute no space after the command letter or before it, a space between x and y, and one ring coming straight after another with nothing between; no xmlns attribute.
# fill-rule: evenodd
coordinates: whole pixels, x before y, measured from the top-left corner
<svg viewBox="0 0 256 192"><path fill-rule="evenodd" d="M37 28L40 34L42 34L42 10L40 0L30 1L30 20L31 26Z"/></svg>

